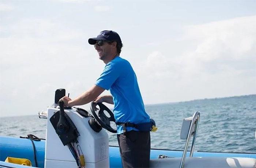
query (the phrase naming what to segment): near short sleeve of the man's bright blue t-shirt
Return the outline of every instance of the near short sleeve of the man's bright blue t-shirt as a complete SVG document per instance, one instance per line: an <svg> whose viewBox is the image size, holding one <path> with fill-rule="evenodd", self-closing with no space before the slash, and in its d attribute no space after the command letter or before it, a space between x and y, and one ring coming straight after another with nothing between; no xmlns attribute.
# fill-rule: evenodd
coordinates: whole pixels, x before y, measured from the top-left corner
<svg viewBox="0 0 256 168"><path fill-rule="evenodd" d="M117 80L120 75L120 70L116 64L107 64L95 85L109 90L112 84Z"/></svg>

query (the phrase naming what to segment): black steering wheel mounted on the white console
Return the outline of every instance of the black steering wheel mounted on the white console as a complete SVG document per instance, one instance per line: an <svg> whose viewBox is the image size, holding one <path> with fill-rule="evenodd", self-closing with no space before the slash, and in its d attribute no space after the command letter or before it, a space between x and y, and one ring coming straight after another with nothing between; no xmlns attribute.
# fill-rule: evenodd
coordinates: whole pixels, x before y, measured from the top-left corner
<svg viewBox="0 0 256 168"><path fill-rule="evenodd" d="M99 112L98 115L95 112L95 106L98 105L99 106ZM104 111L108 112L108 114L110 115L110 117L106 116ZM95 118L95 120L98 121L99 124L101 124L102 128L105 128L106 130L108 130L109 132L112 133L117 133L117 130L112 128L110 125L110 121L116 122L115 118L114 118L114 114L113 112L106 107L104 104L102 103L94 103L93 101L91 102L91 112L93 113L93 116Z"/></svg>

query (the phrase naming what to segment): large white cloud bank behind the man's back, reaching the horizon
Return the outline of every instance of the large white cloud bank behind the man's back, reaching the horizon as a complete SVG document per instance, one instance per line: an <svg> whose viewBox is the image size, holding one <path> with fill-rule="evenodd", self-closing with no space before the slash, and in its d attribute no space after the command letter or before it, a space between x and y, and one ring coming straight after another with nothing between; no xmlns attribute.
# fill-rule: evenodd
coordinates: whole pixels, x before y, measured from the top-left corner
<svg viewBox="0 0 256 168"><path fill-rule="evenodd" d="M255 94L255 27L256 16L184 27L177 44L163 42L139 63L146 102Z"/></svg>

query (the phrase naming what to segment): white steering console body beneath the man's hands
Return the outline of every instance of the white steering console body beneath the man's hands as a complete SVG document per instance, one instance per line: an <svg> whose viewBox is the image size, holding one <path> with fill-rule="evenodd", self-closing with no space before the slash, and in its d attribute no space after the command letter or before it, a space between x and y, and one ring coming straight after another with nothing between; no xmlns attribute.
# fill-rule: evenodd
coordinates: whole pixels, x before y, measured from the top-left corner
<svg viewBox="0 0 256 168"><path fill-rule="evenodd" d="M76 161L67 146L64 146L57 135L50 117L59 108L47 109L45 168L77 167ZM75 124L80 136L78 142L84 155L85 167L109 168L109 139L104 129L95 132L89 125L91 117L83 117L76 109L65 109L65 113Z"/></svg>

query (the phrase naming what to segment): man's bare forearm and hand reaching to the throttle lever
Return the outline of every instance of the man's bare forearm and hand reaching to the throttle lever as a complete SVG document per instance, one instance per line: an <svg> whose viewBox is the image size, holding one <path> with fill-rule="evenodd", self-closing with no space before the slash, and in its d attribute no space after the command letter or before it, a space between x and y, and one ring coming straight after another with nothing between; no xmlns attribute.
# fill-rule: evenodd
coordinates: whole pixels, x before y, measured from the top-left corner
<svg viewBox="0 0 256 168"><path fill-rule="evenodd" d="M105 89L98 87L97 85L93 85L93 87L82 93L82 95L76 97L74 100L71 100L67 96L64 96L60 100L63 100L64 104L68 107L72 107L74 105L84 105L95 100L104 90Z"/></svg>

